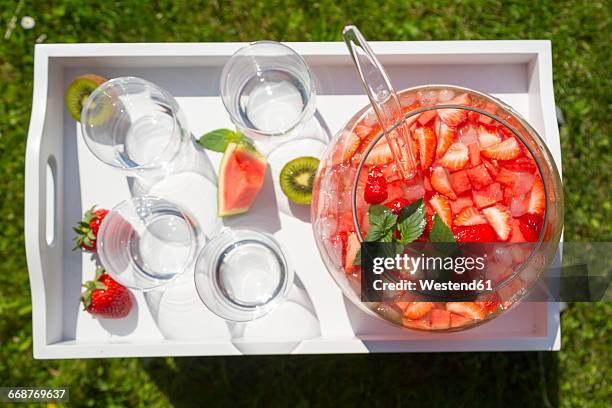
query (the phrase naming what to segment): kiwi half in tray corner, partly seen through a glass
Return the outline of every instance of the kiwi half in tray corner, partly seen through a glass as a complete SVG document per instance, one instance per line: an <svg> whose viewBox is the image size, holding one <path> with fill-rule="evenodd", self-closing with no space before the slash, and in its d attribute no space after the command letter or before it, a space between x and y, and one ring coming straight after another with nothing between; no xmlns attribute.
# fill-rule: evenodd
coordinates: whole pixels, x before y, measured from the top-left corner
<svg viewBox="0 0 612 408"><path fill-rule="evenodd" d="M106 82L106 78L99 75L87 74L76 77L66 90L66 108L76 121L81 120L81 110L89 95L101 84ZM93 107L92 114L88 115L88 122L91 125L101 125L106 122L112 114L112 106Z"/></svg>

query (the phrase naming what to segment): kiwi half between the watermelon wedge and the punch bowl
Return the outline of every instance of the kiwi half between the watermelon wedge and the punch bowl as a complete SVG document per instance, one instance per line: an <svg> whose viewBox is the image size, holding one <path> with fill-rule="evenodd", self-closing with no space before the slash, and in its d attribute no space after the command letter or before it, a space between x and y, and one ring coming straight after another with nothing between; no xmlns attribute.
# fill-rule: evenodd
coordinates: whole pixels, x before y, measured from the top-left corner
<svg viewBox="0 0 612 408"><path fill-rule="evenodd" d="M281 170L280 184L287 198L297 204L310 204L319 159L304 156L293 159Z"/></svg>

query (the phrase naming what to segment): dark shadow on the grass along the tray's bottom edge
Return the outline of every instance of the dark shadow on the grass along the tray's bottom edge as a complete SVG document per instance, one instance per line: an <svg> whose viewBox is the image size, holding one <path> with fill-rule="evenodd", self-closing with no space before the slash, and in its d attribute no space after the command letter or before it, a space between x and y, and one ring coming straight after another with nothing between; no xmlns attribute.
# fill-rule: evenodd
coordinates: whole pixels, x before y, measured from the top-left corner
<svg viewBox="0 0 612 408"><path fill-rule="evenodd" d="M415 353L144 359L176 407L554 407L558 354ZM198 390L198 392L193 392Z"/></svg>

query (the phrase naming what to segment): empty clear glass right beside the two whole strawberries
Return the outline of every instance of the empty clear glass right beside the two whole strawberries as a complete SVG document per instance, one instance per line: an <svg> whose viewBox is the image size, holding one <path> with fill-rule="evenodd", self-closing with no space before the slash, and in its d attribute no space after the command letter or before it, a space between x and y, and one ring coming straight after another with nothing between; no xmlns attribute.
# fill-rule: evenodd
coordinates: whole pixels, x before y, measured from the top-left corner
<svg viewBox="0 0 612 408"><path fill-rule="evenodd" d="M102 221L98 255L106 271L122 285L151 290L176 279L192 264L198 230L190 214L167 200L130 198Z"/></svg>

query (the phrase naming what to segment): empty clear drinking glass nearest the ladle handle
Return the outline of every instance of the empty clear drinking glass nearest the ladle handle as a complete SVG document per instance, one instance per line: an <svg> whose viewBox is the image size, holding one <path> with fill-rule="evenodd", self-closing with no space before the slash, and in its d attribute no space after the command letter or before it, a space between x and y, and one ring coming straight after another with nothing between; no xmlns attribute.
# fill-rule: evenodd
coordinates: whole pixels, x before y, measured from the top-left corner
<svg viewBox="0 0 612 408"><path fill-rule="evenodd" d="M220 88L232 122L255 139L292 132L310 120L316 108L308 65L274 41L238 50L223 67Z"/></svg>

